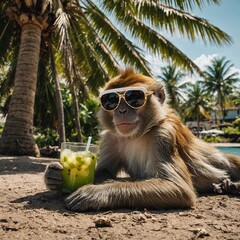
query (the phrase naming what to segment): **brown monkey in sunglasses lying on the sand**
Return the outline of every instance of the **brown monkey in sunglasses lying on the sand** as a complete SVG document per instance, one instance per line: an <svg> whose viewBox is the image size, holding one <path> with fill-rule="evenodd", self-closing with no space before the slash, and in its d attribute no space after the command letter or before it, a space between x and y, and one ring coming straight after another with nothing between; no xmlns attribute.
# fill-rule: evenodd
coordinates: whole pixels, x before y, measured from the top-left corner
<svg viewBox="0 0 240 240"><path fill-rule="evenodd" d="M67 209L187 209L201 193L240 193L240 157L196 137L168 106L160 81L122 70L99 98L102 133L94 184L67 196ZM61 169L48 166L50 190L62 187Z"/></svg>

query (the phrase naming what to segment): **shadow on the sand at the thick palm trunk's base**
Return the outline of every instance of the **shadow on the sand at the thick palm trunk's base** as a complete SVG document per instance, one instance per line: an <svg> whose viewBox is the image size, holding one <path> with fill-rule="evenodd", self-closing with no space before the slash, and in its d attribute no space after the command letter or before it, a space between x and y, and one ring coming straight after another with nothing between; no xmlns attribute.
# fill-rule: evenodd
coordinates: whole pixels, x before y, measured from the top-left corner
<svg viewBox="0 0 240 240"><path fill-rule="evenodd" d="M58 159L0 156L0 175L44 172L49 163L56 161Z"/></svg>

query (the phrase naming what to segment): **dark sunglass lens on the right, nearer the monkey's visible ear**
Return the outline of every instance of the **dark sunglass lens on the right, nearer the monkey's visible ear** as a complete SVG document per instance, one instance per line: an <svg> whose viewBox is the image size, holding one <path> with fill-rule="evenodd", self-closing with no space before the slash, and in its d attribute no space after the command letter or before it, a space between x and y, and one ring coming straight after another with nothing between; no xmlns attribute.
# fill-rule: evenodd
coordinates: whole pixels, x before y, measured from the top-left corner
<svg viewBox="0 0 240 240"><path fill-rule="evenodd" d="M127 103L134 107L141 107L145 103L145 94L141 90L130 90L125 93Z"/></svg>

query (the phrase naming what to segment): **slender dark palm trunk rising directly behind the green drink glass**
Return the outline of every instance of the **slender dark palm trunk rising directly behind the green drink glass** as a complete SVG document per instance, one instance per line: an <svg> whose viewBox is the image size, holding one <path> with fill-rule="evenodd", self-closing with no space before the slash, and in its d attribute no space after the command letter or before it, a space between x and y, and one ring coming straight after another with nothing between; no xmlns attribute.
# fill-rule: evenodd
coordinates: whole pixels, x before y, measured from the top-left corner
<svg viewBox="0 0 240 240"><path fill-rule="evenodd" d="M53 50L51 43L49 41L49 50L51 57L51 68L53 73L54 85L55 85L55 94L56 94L56 102L57 102L57 114L58 114L58 134L59 134L59 147L62 142L66 142L66 134L65 134L65 124L64 124L64 110L63 110L63 101L62 101L62 93L59 84L59 79L57 75L56 64L54 61Z"/></svg>

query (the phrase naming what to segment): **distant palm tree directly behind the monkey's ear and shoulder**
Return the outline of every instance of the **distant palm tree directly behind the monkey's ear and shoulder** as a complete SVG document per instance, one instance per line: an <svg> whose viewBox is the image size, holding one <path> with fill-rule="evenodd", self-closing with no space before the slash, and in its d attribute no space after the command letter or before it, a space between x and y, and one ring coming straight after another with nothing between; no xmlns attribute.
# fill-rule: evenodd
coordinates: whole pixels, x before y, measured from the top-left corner
<svg viewBox="0 0 240 240"><path fill-rule="evenodd" d="M158 76L166 87L169 95L169 104L177 112L180 111L181 100L184 100L183 90L188 85L188 82L180 83L185 74L178 70L175 65L168 65L162 68L162 75Z"/></svg>

